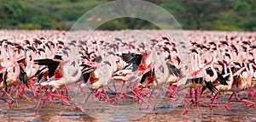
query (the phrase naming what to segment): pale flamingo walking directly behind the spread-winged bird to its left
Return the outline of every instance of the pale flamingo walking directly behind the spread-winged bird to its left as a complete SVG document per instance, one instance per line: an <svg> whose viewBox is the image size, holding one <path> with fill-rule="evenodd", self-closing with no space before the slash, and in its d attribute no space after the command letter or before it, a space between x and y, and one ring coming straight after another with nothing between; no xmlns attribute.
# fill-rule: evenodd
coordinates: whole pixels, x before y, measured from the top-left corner
<svg viewBox="0 0 256 122"><path fill-rule="evenodd" d="M117 56L108 55L104 57L104 60L99 60L98 63L94 64L93 68L86 69L87 71L84 72L84 83L90 89L90 94L109 104L110 99L104 86L110 83L113 74L119 69L122 69L122 66L119 64L119 58ZM84 103L87 103L89 97L90 95L86 97ZM113 100L115 101L115 99Z"/></svg>

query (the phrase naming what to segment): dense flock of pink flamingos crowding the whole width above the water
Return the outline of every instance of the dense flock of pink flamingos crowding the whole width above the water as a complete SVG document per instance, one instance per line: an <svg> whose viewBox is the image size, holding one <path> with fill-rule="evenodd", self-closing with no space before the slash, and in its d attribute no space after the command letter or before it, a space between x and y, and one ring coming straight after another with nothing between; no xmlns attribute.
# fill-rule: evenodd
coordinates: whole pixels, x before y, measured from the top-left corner
<svg viewBox="0 0 256 122"><path fill-rule="evenodd" d="M148 108L153 99L166 98L173 104L179 99L183 114L195 106L199 116L201 104L227 111L235 101L256 107L255 32L185 31L185 41L174 39L175 33L172 38L159 31L144 32L151 36L96 31L93 37L71 40L67 31L2 30L0 102L11 108L19 97L38 100L36 114L54 98L82 112L90 98L113 106L119 98L130 97ZM89 35L84 33L73 36ZM86 97L81 106L69 96L74 85ZM168 95L163 97L164 90ZM178 95L181 92L184 97ZM219 96L228 93L226 103L220 103Z"/></svg>

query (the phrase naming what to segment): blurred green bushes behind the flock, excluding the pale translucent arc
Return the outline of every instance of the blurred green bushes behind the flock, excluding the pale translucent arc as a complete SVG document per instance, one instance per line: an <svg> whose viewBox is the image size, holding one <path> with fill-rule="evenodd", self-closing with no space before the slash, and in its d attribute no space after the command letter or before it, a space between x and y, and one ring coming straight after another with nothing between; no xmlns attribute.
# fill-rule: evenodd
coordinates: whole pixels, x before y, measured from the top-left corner
<svg viewBox="0 0 256 122"><path fill-rule="evenodd" d="M0 28L69 30L79 17L110 0L0 0ZM186 30L256 31L255 0L147 0ZM148 21L113 19L99 29L158 29Z"/></svg>

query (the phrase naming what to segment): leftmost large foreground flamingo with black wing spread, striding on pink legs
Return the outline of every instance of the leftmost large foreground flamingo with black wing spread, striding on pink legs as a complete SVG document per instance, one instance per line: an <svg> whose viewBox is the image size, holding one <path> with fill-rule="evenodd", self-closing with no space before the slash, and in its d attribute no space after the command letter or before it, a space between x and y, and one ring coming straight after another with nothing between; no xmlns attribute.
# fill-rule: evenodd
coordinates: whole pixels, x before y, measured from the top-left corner
<svg viewBox="0 0 256 122"><path fill-rule="evenodd" d="M55 56L55 59L38 59L35 60L35 64L39 65L47 65L48 66L48 72L49 72L49 80L39 82L39 86L49 87L51 90L48 93L48 96L44 98L43 103L41 103L40 106L38 106L38 111L44 103L47 101L49 97L59 97L61 98L61 103L63 105L71 106L72 108L79 108L81 111L84 112L84 109L78 106L74 106L67 101L65 101L65 98L69 100L68 97L65 97L63 95L60 95L58 91L66 86L70 86L77 81L80 80L82 72L79 68L78 61L62 61L61 59L56 59L58 56ZM75 69L70 71L71 69ZM57 95L53 94L57 90ZM40 98L41 99L41 98ZM39 105L39 103L38 103ZM36 114L38 114L38 111Z"/></svg>

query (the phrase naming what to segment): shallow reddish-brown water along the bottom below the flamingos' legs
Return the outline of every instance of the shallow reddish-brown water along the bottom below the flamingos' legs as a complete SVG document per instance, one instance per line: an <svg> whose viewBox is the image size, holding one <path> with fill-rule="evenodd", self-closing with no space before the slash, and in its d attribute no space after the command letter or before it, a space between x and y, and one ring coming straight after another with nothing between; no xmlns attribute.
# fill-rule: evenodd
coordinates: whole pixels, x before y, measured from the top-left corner
<svg viewBox="0 0 256 122"><path fill-rule="evenodd" d="M230 94L220 96L221 99ZM241 95L241 98L245 94ZM231 103L231 111L225 108L211 109L207 105L200 104L202 118L200 119L194 106L189 107L189 113L183 115L182 105L177 108L168 107L170 101L163 100L156 110L148 112L138 109L138 104L126 99L123 103L116 104L114 110L108 104L102 102L88 103L85 113L73 108L61 105L61 101L45 103L37 116L35 116L38 99L28 102L24 98L17 99L12 108L7 103L0 104L0 119L2 121L256 121L256 108L248 108L243 103Z"/></svg>

